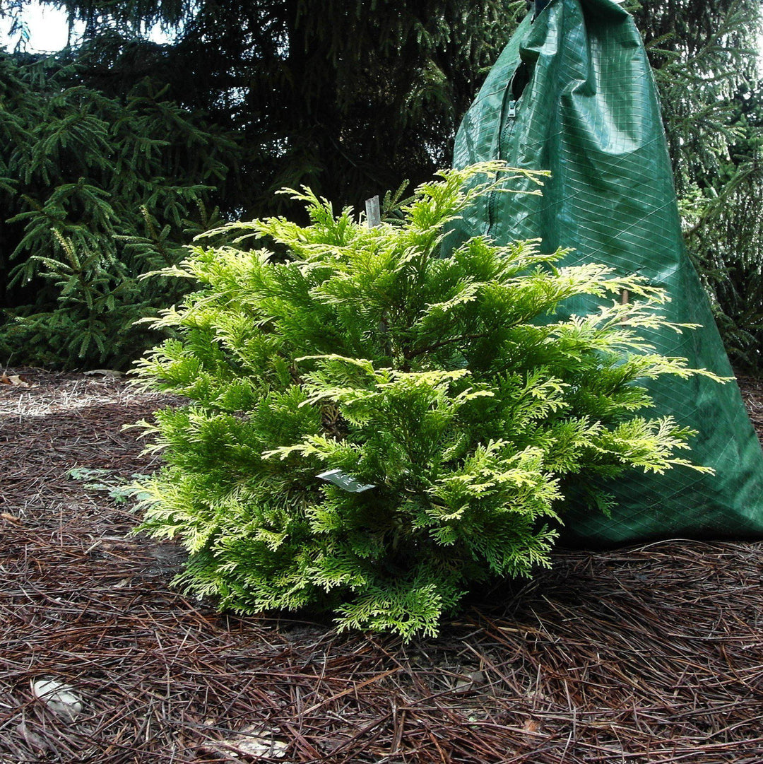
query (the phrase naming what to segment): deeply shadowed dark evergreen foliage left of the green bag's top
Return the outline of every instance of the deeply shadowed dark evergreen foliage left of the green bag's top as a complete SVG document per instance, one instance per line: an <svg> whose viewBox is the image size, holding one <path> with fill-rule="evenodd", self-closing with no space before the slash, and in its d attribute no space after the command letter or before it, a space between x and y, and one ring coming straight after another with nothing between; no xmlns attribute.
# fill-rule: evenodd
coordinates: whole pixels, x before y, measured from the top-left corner
<svg viewBox="0 0 763 764"><path fill-rule="evenodd" d="M175 31L161 55L149 46L146 58L111 57L105 79L149 66L173 99L233 128L245 183L222 189L223 209L245 217L275 212L283 186L304 183L357 205L449 166L458 121L525 8L523 0L61 5L89 22L96 47L121 35L140 48L135 37L155 22ZM276 203L299 211L286 197Z"/></svg>

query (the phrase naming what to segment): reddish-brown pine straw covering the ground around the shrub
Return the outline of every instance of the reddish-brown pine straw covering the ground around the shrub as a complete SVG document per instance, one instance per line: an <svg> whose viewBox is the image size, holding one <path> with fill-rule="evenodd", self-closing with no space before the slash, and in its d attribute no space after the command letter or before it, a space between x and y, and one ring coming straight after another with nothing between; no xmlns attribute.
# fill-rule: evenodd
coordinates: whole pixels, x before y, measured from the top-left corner
<svg viewBox="0 0 763 764"><path fill-rule="evenodd" d="M760 543L560 552L408 646L221 616L170 587L176 546L128 538L129 503L66 476L153 471L120 427L160 398L25 378L0 385L0 764L763 762Z"/></svg>

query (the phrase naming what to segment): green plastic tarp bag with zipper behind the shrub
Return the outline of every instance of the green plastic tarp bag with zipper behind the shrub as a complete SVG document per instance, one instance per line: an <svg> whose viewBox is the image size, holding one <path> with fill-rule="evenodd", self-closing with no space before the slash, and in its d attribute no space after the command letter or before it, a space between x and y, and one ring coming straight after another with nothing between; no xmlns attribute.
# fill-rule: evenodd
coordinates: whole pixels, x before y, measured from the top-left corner
<svg viewBox="0 0 763 764"><path fill-rule="evenodd" d="M490 71L458 131L454 166L501 159L550 170L542 196L495 193L467 210L454 238L498 244L541 238L574 248L563 264L600 262L668 291L661 312L701 329L651 332L658 352L732 376L710 303L681 237L655 81L631 16L614 0L551 0L528 15ZM528 182L528 189L530 189ZM567 314L597 305L578 299ZM565 517L562 540L612 545L684 536L763 536L763 452L735 383L705 377L649 384L654 416L699 432L695 463L629 474L606 490L617 507Z"/></svg>

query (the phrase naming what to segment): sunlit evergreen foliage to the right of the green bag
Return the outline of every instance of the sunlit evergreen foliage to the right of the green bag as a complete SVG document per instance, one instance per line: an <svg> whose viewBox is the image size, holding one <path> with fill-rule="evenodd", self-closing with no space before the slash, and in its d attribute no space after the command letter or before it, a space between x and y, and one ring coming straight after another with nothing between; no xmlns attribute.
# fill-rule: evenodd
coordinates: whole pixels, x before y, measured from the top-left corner
<svg viewBox="0 0 763 764"><path fill-rule="evenodd" d="M763 358L759 0L636 2L661 92L687 245L736 364Z"/></svg>

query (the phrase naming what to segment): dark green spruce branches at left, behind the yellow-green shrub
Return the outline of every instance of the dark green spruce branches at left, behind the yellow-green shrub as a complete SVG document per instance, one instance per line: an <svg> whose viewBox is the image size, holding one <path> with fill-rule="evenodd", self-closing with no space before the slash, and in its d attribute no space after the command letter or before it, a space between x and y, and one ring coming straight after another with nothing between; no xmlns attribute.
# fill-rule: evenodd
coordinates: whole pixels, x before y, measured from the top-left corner
<svg viewBox="0 0 763 764"><path fill-rule="evenodd" d="M137 319L183 293L141 280L214 225L235 144L144 79L122 96L77 63L0 54L0 358L124 367Z"/></svg>

